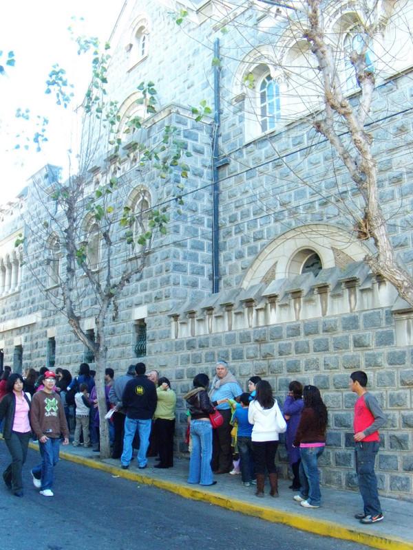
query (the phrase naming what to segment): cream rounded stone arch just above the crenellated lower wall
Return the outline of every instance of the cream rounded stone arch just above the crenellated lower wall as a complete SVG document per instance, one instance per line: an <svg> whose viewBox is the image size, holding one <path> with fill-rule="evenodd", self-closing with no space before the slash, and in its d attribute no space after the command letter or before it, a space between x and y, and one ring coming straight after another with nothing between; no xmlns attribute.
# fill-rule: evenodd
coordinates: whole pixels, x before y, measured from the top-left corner
<svg viewBox="0 0 413 550"><path fill-rule="evenodd" d="M269 243L251 264L242 281L248 288L302 272L311 255L317 254L324 269L361 261L371 252L367 245L335 225L314 223L288 230Z"/></svg>

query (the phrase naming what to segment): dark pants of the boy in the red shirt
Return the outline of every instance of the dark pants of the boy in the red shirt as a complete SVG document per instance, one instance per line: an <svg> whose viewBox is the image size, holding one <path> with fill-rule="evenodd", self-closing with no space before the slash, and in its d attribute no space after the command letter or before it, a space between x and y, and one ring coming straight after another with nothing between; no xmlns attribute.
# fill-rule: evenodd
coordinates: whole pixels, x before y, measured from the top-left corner
<svg viewBox="0 0 413 550"><path fill-rule="evenodd" d="M355 444L356 472L359 476L359 489L366 516L381 514L377 477L374 473L374 461L378 451L379 441L359 441Z"/></svg>

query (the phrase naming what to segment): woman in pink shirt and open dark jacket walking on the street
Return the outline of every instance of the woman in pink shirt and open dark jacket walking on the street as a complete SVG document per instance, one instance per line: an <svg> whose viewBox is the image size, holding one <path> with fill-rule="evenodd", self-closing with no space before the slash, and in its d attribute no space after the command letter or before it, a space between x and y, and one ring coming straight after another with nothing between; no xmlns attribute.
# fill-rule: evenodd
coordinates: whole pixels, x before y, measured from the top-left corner
<svg viewBox="0 0 413 550"><path fill-rule="evenodd" d="M21 470L28 454L30 427L30 394L23 392L23 377L14 373L8 377L6 395L0 402L0 420L4 420L3 438L12 462L3 472L3 480L14 496L23 496Z"/></svg>

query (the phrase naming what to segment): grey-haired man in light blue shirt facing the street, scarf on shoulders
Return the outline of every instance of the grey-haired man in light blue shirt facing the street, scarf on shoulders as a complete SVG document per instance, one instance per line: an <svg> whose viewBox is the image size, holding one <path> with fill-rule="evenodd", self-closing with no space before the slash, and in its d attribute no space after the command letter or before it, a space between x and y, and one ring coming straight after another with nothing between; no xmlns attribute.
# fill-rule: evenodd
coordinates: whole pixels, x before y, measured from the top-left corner
<svg viewBox="0 0 413 550"><path fill-rule="evenodd" d="M228 363L220 360L216 364L209 399L216 407L224 423L213 430L212 470L215 474L229 474L233 468L231 452L231 406L226 399L235 399L242 394L242 388L235 376L228 370Z"/></svg>

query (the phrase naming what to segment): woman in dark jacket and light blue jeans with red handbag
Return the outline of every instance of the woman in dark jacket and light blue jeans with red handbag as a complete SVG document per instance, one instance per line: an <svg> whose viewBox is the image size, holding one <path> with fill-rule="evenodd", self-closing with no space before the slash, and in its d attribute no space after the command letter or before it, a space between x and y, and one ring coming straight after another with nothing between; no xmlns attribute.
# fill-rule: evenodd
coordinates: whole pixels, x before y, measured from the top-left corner
<svg viewBox="0 0 413 550"><path fill-rule="evenodd" d="M184 395L191 413L192 452L189 459L188 483L200 485L215 485L213 481L212 458L212 426L209 415L214 411L209 400L207 388L209 377L198 374L193 379L193 389Z"/></svg>

